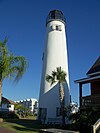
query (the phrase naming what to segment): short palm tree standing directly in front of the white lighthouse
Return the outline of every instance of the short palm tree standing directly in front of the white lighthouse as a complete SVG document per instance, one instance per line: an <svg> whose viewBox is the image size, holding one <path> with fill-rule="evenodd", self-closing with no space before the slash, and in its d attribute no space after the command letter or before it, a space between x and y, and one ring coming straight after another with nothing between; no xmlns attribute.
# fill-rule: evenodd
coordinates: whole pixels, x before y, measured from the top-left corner
<svg viewBox="0 0 100 133"><path fill-rule="evenodd" d="M59 100L61 106L62 124L65 125L65 99L64 99L64 85L66 82L66 72L61 67L57 67L56 71L52 71L51 75L46 76L46 80L53 85L55 82L59 83Z"/></svg>

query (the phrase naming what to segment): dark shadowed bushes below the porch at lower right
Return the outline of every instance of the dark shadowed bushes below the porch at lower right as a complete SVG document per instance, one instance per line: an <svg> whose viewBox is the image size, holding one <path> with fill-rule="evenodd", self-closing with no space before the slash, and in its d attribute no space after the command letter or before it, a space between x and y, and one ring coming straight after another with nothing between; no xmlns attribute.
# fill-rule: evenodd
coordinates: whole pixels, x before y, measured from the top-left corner
<svg viewBox="0 0 100 133"><path fill-rule="evenodd" d="M84 108L78 112L71 114L69 119L75 128L82 133L90 133L91 125L93 125L100 118L100 109L94 107ZM73 129L75 130L75 129Z"/></svg>

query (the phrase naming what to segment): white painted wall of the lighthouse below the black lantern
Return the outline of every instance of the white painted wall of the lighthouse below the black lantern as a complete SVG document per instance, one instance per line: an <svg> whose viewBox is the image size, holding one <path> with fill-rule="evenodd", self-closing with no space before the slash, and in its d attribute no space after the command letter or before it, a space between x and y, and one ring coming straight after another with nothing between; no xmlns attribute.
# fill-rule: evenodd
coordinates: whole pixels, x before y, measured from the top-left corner
<svg viewBox="0 0 100 133"><path fill-rule="evenodd" d="M61 31L52 30L52 26L61 26ZM50 86L46 81L46 75L60 67L67 73L65 86L65 104L70 103L70 87L68 73L68 58L65 25L60 21L51 21L46 28L46 43L43 57L42 78L40 86L39 108L47 108L48 118L56 118L56 107L59 104L59 86L55 83Z"/></svg>

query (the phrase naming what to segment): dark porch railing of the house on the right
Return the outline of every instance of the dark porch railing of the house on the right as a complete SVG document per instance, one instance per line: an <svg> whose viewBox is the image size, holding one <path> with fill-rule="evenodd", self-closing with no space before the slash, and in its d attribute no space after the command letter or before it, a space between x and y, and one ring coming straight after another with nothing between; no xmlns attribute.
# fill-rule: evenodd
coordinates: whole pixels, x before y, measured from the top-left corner
<svg viewBox="0 0 100 133"><path fill-rule="evenodd" d="M100 106L100 94L82 97L82 107Z"/></svg>

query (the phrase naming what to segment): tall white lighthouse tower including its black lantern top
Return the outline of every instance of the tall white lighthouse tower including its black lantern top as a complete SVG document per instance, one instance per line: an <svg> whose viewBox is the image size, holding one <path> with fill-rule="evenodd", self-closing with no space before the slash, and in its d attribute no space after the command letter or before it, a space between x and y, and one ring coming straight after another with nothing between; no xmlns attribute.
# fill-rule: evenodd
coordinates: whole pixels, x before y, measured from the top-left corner
<svg viewBox="0 0 100 133"><path fill-rule="evenodd" d="M70 87L68 73L68 56L66 43L66 20L59 10L50 11L46 20L46 43L43 53L43 68L39 96L38 118L43 122L60 122L59 86L50 86L46 75L51 74L57 67L67 73L65 91L65 106L70 103Z"/></svg>

